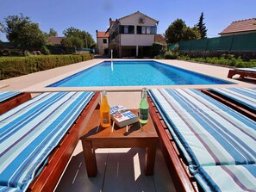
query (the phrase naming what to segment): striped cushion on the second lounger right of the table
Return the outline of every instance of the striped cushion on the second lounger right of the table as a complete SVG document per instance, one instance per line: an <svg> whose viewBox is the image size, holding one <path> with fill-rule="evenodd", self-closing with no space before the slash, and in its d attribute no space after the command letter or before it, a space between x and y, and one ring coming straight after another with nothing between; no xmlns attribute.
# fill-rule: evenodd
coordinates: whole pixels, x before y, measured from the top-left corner
<svg viewBox="0 0 256 192"><path fill-rule="evenodd" d="M209 90L240 102L256 113L256 88L210 88Z"/></svg>

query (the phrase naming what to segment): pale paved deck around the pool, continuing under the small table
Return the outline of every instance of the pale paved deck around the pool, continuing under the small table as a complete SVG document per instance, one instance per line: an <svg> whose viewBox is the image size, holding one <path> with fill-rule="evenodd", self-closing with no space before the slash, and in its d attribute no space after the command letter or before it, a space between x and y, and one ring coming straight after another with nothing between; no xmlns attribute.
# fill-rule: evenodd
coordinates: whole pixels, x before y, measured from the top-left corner
<svg viewBox="0 0 256 192"><path fill-rule="evenodd" d="M46 88L64 77L82 71L92 65L109 59L92 59L74 65L67 65L48 71L35 72L22 77L14 77L0 81L0 91L21 90L31 92L32 96L44 91L64 90L108 90L109 105L121 104L127 108L138 108L140 103L140 90L142 87L82 87L82 88ZM120 59L118 59L120 60ZM148 59L147 59L148 60ZM190 71L197 71L212 77L219 77L235 84L222 85L172 85L157 86L165 88L195 88L209 87L256 87L256 81L240 81L227 78L230 68L215 65L204 65L181 60L157 60L159 62L178 66ZM155 88L156 86L147 86ZM96 151L98 175L87 177L84 165L82 145L78 146L72 154L69 164L59 180L55 191L149 191L167 192L176 191L172 178L165 165L165 159L160 150L157 150L154 175L147 177L144 174L145 150L139 148L98 149Z"/></svg>

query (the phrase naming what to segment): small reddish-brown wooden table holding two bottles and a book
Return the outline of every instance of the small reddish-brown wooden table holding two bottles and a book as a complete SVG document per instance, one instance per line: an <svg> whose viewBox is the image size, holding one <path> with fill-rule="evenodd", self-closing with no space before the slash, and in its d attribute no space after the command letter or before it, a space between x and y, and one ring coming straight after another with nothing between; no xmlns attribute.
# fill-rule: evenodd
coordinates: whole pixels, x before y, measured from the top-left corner
<svg viewBox="0 0 256 192"><path fill-rule="evenodd" d="M131 110L135 115L138 110ZM140 122L126 127L100 127L99 109L91 115L91 120L84 129L82 140L85 165L88 177L97 176L97 161L95 150L97 148L146 148L145 174L153 175L158 134L149 117L147 124Z"/></svg>

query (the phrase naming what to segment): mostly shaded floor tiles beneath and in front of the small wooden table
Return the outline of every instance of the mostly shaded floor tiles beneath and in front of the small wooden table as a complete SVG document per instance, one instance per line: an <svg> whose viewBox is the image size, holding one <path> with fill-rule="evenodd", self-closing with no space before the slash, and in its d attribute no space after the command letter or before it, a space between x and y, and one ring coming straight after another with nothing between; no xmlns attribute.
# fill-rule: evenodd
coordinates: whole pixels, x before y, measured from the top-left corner
<svg viewBox="0 0 256 192"><path fill-rule="evenodd" d="M176 191L162 153L156 154L153 176L145 176L145 150L140 148L98 149L97 177L87 177L84 155L78 153L68 164L55 191Z"/></svg>

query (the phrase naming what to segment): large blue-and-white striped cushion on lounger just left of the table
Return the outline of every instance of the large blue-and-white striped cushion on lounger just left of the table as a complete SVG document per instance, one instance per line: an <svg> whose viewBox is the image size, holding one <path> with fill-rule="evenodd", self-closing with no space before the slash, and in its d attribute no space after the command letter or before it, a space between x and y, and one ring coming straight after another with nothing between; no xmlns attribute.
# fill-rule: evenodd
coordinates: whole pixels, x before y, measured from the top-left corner
<svg viewBox="0 0 256 192"><path fill-rule="evenodd" d="M25 191L93 92L43 93L0 116L0 185Z"/></svg>

